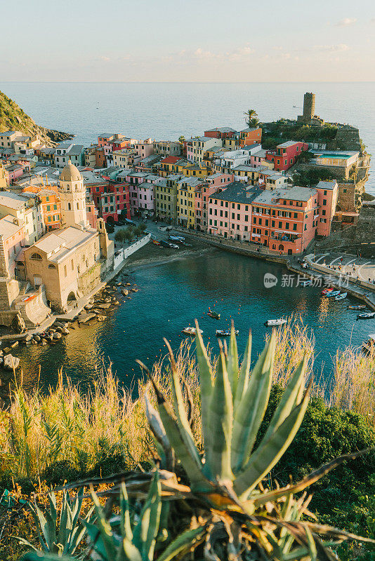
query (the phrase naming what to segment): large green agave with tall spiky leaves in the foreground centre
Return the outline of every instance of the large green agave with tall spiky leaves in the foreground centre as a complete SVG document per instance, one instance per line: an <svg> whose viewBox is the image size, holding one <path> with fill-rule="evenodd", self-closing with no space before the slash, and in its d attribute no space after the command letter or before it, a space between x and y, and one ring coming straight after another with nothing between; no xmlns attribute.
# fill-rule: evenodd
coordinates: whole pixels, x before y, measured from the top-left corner
<svg viewBox="0 0 375 561"><path fill-rule="evenodd" d="M305 357L296 368L259 442L254 445L270 397L275 334L250 374L251 334L239 367L232 325L229 346L220 344L215 372L197 325L197 362L201 396L204 455L199 454L183 400L176 362L169 347L174 411L154 384L162 426L194 492L211 492L217 483L232 488L241 500L257 494L256 487L287 450L308 406ZM150 405L148 405L150 408ZM228 485L230 484L230 485Z"/></svg>

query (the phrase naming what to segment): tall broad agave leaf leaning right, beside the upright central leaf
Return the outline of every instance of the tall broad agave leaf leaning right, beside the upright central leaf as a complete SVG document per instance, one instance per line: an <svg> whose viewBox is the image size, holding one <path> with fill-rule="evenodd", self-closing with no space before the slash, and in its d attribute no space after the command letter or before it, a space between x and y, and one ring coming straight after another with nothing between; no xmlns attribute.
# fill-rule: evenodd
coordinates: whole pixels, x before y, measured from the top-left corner
<svg viewBox="0 0 375 561"><path fill-rule="evenodd" d="M235 411L232 436L232 469L235 473L246 464L267 409L274 353L275 333L272 332L268 345L263 349L251 372L246 393Z"/></svg>

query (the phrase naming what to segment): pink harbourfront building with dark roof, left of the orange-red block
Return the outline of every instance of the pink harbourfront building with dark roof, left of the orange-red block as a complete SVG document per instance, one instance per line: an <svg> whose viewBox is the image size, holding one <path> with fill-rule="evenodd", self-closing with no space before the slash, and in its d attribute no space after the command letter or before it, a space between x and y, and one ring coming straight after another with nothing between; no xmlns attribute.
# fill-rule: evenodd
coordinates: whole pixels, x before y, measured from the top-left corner
<svg viewBox="0 0 375 561"><path fill-rule="evenodd" d="M209 196L209 234L239 241L251 240L251 203L261 190L232 182Z"/></svg>

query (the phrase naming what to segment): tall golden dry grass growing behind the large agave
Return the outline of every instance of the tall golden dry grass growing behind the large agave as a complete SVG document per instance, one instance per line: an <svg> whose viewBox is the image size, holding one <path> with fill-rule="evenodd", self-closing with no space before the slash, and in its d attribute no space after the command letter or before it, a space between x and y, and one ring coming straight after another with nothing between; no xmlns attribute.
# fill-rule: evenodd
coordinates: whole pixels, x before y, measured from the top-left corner
<svg viewBox="0 0 375 561"><path fill-rule="evenodd" d="M308 353L311 375L313 335L294 318L277 331L275 383L287 384L304 352ZM202 442L199 375L190 344L181 344L176 360L195 404L195 438L199 443ZM170 396L168 359L154 365L153 372ZM330 405L358 412L369 424L374 424L374 372L374 356L365 358L353 349L338 352L334 360ZM122 456L129 468L152 459L152 438L144 411L145 390L145 381L140 381L139 398L133 400L129 390L115 379L110 367L102 369L91 391L84 394L70 379L63 379L62 373L58 386L50 388L46 394L38 388L27 394L18 386L9 409L0 412L0 474L34 478L47 466L62 460L88 471L100 458L114 454ZM319 391L319 384L316 384L316 391Z"/></svg>

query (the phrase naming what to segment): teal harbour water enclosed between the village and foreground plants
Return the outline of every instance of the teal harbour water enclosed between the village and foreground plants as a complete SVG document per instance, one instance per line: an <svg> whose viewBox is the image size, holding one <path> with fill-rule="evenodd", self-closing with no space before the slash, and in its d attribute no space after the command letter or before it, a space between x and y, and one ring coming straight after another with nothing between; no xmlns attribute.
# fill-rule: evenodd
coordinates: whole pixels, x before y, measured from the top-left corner
<svg viewBox="0 0 375 561"><path fill-rule="evenodd" d="M230 325L231 318L239 329L241 352L251 327L254 353L259 353L268 331L263 325L265 320L293 312L301 314L305 325L313 329L318 353L315 364L317 370L323 366L329 377L336 348L350 343L358 346L374 330L371 320L356 321L356 312L346 309L355 300L322 299L320 290L311 287L265 289L265 272L275 274L280 284L282 274L288 271L219 250L136 269L129 280L139 285L140 292L105 323L77 328L53 347L20 348L24 384L29 388L34 385L40 364L41 383L45 386L55 384L60 367L86 386L95 379L101 358L110 357L119 379L130 386L140 372L134 363L136 358L152 365L166 352L163 337L177 349L181 330L189 323L193 325L194 318L199 319L205 342L211 342L216 350L215 330ZM209 306L221 313L221 320L203 315Z"/></svg>

